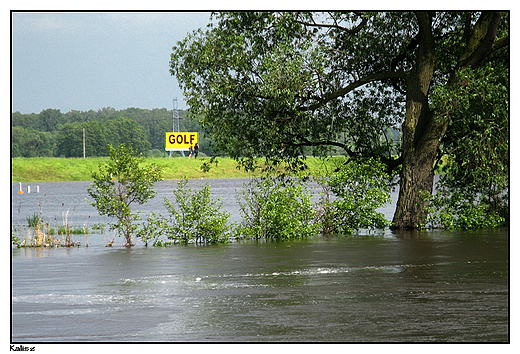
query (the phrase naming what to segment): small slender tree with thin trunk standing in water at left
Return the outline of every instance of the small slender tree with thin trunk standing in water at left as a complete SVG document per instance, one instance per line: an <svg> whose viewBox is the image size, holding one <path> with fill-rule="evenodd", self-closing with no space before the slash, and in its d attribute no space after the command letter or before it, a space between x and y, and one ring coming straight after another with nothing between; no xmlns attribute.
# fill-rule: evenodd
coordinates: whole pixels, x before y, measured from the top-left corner
<svg viewBox="0 0 520 354"><path fill-rule="evenodd" d="M110 228L123 235L126 246L131 247L134 245L132 235L138 228L134 221L140 219L132 213L131 205L146 203L155 196L153 185L161 179L161 169L155 164L144 165L144 157L137 154L131 144L121 144L117 149L108 145L108 152L109 161L92 173L94 182L88 194L94 201L89 203L100 215L117 219Z"/></svg>

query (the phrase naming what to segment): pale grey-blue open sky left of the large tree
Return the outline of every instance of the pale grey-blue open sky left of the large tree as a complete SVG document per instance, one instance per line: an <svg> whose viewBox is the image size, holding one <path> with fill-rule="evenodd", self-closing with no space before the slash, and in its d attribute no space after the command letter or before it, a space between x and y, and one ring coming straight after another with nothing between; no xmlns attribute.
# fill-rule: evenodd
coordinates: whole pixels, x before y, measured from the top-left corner
<svg viewBox="0 0 520 354"><path fill-rule="evenodd" d="M12 111L186 108L172 47L202 12L13 12Z"/></svg>

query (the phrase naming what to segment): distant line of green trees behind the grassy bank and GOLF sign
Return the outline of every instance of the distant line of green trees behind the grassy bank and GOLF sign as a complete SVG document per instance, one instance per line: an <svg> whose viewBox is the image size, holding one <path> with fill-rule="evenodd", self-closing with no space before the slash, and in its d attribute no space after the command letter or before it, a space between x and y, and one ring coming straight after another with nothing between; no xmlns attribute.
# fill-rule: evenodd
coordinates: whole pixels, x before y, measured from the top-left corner
<svg viewBox="0 0 520 354"><path fill-rule="evenodd" d="M179 116L180 130L199 132L201 151L211 155L209 141L197 121L186 119L183 110ZM107 156L108 144L122 143L132 143L134 149L145 156L163 156L165 133L173 129L172 118L172 111L166 108L14 112L11 114L11 156L83 157L83 129L87 157Z"/></svg>

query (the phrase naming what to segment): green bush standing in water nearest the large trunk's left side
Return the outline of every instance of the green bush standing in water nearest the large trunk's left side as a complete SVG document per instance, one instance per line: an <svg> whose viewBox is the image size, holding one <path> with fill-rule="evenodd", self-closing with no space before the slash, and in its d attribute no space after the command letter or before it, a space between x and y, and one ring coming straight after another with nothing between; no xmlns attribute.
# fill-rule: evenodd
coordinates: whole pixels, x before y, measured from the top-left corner
<svg viewBox="0 0 520 354"><path fill-rule="evenodd" d="M317 180L324 189L318 214L324 234L351 234L388 226L383 213L377 211L390 200L389 176L380 162L347 161Z"/></svg>

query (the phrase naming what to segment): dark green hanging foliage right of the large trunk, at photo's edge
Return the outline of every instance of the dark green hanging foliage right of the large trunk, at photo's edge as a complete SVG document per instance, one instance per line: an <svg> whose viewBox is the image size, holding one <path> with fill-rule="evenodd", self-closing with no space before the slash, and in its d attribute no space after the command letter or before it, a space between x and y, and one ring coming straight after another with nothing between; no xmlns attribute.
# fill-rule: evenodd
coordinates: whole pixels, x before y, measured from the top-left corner
<svg viewBox="0 0 520 354"><path fill-rule="evenodd" d="M444 106L453 117L443 140L450 156L446 172L485 194L490 187L504 190L509 174L508 75L507 68L489 66L462 70L464 85L451 90Z"/></svg>

